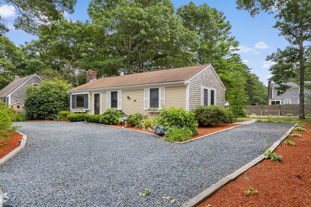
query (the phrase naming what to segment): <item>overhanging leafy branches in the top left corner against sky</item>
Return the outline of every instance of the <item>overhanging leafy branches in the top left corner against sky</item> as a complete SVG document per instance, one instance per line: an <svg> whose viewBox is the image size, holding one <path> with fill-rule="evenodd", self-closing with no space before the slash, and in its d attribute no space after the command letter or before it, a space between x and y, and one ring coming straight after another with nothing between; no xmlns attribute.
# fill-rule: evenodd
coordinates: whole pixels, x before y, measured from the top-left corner
<svg viewBox="0 0 311 207"><path fill-rule="evenodd" d="M52 25L63 18L63 14L74 12L77 0L0 0L0 9L17 14L13 26L30 34L36 34L41 26ZM7 19L0 15L0 35L8 32Z"/></svg>

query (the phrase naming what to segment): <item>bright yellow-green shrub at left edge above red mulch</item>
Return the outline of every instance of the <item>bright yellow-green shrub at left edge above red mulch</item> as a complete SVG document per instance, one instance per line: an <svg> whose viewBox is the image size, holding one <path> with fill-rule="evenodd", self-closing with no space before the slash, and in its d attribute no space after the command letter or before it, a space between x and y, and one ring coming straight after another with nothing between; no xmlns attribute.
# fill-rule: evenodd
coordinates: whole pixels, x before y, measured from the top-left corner
<svg viewBox="0 0 311 207"><path fill-rule="evenodd" d="M12 138L12 134L8 132L20 127L12 126L12 119L14 119L14 113L12 113L11 108L0 102L0 146L6 144L6 141Z"/></svg>

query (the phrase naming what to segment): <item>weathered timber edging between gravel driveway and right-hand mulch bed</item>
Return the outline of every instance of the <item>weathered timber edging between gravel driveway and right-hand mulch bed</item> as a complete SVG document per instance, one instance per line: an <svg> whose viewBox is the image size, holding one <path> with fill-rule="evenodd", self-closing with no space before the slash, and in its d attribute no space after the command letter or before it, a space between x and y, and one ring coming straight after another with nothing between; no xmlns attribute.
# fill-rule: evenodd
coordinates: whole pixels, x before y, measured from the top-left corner
<svg viewBox="0 0 311 207"><path fill-rule="evenodd" d="M291 127L281 138L279 138L270 148L271 152L273 152L277 146L281 144L281 142L284 141L284 139L292 132L293 128L296 126L295 124L293 127ZM225 178L222 178L220 181L216 182L215 184L212 184L210 187L202 191L199 195L191 198L190 200L186 201L181 205L181 207L196 207L200 205L203 201L207 200L209 197L214 195L217 191L219 191L223 186L230 183L231 181L234 181L236 178L238 178L240 175L245 173L246 170L249 168L257 165L258 163L265 160L265 155L260 155L259 157L255 158L248 164L244 165L240 169L236 170L232 174L226 176Z"/></svg>

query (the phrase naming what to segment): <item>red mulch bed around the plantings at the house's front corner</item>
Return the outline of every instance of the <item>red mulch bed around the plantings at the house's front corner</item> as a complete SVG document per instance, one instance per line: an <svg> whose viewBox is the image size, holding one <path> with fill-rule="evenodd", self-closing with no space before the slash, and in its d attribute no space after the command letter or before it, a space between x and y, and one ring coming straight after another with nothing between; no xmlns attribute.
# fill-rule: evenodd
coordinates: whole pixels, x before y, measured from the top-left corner
<svg viewBox="0 0 311 207"><path fill-rule="evenodd" d="M215 126L210 126L210 127L198 127L197 129L199 130L199 133L196 136L191 137L191 139L197 138L197 137L201 137L203 135L207 135L213 132L217 132L226 128L230 128L230 127L234 127L237 126L239 124L217 124ZM120 125L110 125L110 126L114 126L114 127L120 127L122 128L123 126ZM134 129L137 131L143 131L143 132L148 132L148 129L146 128L145 130L142 130L142 128L135 128L132 126L127 126L127 129ZM151 133L154 134L154 133Z"/></svg>

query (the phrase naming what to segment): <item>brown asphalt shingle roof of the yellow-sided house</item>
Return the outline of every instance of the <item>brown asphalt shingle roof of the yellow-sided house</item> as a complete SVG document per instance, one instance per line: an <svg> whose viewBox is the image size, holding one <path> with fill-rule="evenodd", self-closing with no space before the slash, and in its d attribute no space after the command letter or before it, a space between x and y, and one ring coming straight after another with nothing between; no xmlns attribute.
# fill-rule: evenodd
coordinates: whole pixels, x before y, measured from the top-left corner
<svg viewBox="0 0 311 207"><path fill-rule="evenodd" d="M100 78L69 91L183 81L190 79L207 65L210 64Z"/></svg>

